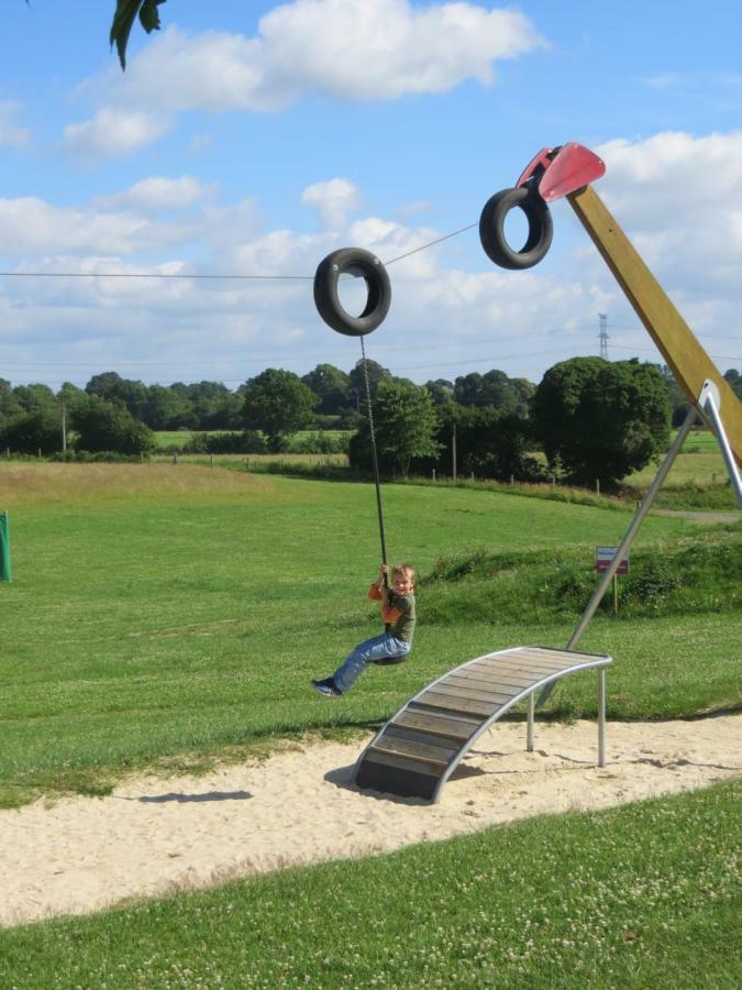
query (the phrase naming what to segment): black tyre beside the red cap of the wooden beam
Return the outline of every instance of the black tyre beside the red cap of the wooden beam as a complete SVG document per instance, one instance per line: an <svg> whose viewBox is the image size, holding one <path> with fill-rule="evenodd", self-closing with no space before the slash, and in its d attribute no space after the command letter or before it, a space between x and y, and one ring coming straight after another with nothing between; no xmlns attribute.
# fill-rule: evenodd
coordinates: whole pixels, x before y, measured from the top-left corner
<svg viewBox="0 0 742 990"><path fill-rule="evenodd" d="M505 237L505 219L519 207L528 220L528 238L520 251L513 251ZM539 194L525 186L496 193L479 217L479 240L490 261L501 268L532 268L549 251L554 224L549 207Z"/></svg>

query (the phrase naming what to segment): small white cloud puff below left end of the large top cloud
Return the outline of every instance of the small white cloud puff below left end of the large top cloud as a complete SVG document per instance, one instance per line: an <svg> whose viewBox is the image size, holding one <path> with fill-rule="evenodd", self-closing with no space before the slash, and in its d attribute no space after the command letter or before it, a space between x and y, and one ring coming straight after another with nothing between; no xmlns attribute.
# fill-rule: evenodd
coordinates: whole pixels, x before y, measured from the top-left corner
<svg viewBox="0 0 742 990"><path fill-rule="evenodd" d="M86 158L126 155L162 138L170 127L171 121L159 113L103 107L92 120L67 124L64 146Z"/></svg>

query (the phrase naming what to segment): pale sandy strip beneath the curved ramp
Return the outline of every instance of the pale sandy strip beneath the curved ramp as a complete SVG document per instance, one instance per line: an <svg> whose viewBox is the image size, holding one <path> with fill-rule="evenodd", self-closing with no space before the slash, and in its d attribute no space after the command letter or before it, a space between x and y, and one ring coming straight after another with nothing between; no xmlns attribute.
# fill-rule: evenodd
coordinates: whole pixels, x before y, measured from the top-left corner
<svg viewBox="0 0 742 990"><path fill-rule="evenodd" d="M321 743L207 777L139 778L109 798L0 812L0 925L96 911L294 864L366 856L545 812L596 809L742 773L742 716L500 724L436 805L353 787L359 745Z"/></svg>

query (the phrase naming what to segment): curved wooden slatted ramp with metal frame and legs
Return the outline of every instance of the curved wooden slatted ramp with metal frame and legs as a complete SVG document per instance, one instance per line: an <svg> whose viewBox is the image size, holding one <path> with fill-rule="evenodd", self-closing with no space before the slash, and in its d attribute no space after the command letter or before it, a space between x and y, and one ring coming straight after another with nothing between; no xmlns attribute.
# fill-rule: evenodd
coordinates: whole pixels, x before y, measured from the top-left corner
<svg viewBox="0 0 742 990"><path fill-rule="evenodd" d="M400 798L435 802L474 741L501 715L529 698L528 749L533 748L533 693L566 674L597 668L599 763L605 762L605 668L610 657L514 647L456 667L416 694L362 752L355 783Z"/></svg>

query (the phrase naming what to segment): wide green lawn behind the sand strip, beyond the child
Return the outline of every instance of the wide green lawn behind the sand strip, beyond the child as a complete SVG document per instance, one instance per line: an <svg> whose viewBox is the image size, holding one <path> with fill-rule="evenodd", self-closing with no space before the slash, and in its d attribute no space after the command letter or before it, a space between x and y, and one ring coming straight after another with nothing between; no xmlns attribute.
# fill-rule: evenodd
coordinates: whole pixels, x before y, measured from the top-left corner
<svg viewBox="0 0 742 990"><path fill-rule="evenodd" d="M309 680L378 628L365 597L379 557L368 485L182 464L18 465L3 469L3 482L14 580L0 586L0 804L38 788L95 791L122 769L177 755L367 729L464 660L519 644L563 646L587 600L550 608L536 586L523 610L521 579L501 598L492 587L507 574L472 585L423 580L413 660L369 671L329 707ZM536 557L564 548L584 557L591 583L595 544L618 542L629 521L591 506L409 485L386 488L385 514L390 557L412 561L423 579L441 557L473 548ZM639 542L696 532L685 519L650 518ZM553 580L543 576L545 586ZM741 616L605 617L580 646L616 658L613 716L728 707L739 701L729 644L739 642ZM571 680L554 711L594 714L588 682Z"/></svg>

